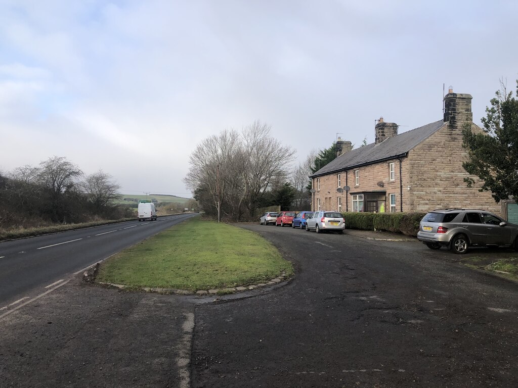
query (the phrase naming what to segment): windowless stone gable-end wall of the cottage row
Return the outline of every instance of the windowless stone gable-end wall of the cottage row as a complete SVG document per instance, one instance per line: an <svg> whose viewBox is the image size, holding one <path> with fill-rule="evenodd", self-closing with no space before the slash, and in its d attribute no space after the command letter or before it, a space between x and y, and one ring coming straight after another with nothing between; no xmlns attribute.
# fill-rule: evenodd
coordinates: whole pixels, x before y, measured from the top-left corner
<svg viewBox="0 0 518 388"><path fill-rule="evenodd" d="M426 212L435 208L480 208L502 215L490 192L468 188L462 167L467 154L462 147L462 128L448 123L408 155L408 197L406 208ZM481 130L472 124L474 130ZM479 185L480 187L480 185Z"/></svg>

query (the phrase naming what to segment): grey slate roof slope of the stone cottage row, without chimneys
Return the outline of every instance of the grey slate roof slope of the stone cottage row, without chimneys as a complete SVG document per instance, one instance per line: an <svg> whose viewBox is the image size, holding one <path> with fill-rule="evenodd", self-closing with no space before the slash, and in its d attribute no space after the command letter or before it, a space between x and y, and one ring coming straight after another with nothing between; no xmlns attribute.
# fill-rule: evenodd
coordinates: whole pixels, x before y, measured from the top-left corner
<svg viewBox="0 0 518 388"><path fill-rule="evenodd" d="M327 175L334 172L349 170L354 167L371 165L373 163L406 156L413 147L433 135L445 123L442 120L430 123L410 131L400 133L392 138L385 139L380 144L367 144L355 150L340 155L332 162L327 163L310 177Z"/></svg>

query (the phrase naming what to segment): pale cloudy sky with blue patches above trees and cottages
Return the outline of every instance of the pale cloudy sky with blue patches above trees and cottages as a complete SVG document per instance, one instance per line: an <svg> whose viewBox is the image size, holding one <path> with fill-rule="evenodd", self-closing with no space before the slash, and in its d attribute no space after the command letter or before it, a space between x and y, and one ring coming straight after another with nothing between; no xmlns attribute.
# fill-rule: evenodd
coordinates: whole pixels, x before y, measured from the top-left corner
<svg viewBox="0 0 518 388"><path fill-rule="evenodd" d="M514 0L0 0L0 172L66 157L121 193L191 197L204 139L259 120L296 151L516 91Z"/></svg>

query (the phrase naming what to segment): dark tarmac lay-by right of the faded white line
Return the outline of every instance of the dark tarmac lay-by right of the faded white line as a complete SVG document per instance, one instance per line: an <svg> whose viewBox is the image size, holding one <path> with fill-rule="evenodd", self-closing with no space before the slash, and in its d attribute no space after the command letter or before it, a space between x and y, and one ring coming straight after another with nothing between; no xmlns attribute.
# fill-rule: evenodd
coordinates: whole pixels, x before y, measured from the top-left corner
<svg viewBox="0 0 518 388"><path fill-rule="evenodd" d="M196 308L194 387L518 386L516 283L417 241L243 227L296 278Z"/></svg>

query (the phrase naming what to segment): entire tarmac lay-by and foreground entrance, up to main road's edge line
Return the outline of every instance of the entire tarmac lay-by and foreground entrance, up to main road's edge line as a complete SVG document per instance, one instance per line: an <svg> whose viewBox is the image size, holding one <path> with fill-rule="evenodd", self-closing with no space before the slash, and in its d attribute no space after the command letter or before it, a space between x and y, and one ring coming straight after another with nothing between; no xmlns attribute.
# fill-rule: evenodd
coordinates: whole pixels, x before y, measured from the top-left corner
<svg viewBox="0 0 518 388"><path fill-rule="evenodd" d="M75 278L0 319L0 385L518 385L516 283L416 241L242 227L293 260L293 281L214 300Z"/></svg>

